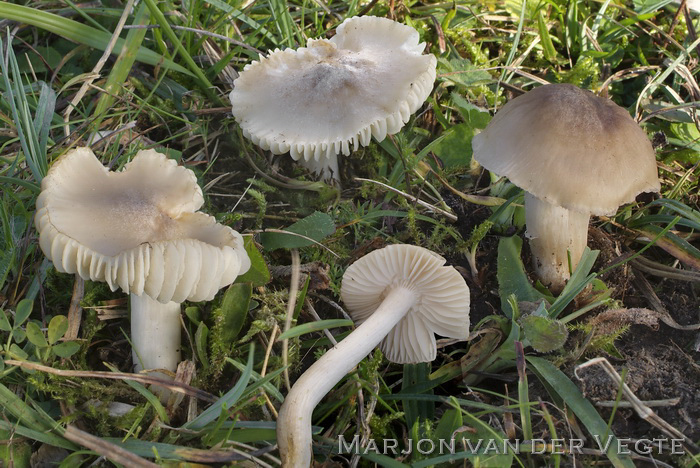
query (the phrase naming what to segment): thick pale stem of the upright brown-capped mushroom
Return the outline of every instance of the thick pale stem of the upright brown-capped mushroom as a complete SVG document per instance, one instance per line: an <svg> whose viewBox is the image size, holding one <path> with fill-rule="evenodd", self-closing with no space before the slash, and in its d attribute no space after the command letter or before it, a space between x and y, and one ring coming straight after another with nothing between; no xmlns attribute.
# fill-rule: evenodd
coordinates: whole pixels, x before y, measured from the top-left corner
<svg viewBox="0 0 700 468"><path fill-rule="evenodd" d="M567 210L525 192L525 222L532 264L543 284L555 292L564 289L588 242L590 213Z"/></svg>

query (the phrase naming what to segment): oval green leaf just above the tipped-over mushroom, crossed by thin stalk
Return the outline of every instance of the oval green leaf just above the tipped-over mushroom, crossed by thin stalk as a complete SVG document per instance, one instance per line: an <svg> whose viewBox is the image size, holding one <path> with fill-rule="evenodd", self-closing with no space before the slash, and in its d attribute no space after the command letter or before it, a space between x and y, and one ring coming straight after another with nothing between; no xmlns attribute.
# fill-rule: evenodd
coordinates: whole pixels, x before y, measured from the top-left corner
<svg viewBox="0 0 700 468"><path fill-rule="evenodd" d="M335 232L333 219L326 213L316 211L314 214L297 221L283 232L263 232L260 234L260 242L265 250L296 249L313 245L324 237ZM298 235L295 235L298 234Z"/></svg>

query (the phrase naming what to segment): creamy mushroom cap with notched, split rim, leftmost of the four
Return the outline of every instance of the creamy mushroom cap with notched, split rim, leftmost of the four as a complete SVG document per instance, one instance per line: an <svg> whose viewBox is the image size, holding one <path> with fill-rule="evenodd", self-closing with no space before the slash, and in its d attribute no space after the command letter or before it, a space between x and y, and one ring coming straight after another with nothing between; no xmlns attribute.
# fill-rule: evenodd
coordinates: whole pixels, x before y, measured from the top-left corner
<svg viewBox="0 0 700 468"><path fill-rule="evenodd" d="M196 212L204 199L194 172L164 154L139 151L110 172L77 148L41 189L39 244L60 272L179 303L210 300L250 268L242 236Z"/></svg>

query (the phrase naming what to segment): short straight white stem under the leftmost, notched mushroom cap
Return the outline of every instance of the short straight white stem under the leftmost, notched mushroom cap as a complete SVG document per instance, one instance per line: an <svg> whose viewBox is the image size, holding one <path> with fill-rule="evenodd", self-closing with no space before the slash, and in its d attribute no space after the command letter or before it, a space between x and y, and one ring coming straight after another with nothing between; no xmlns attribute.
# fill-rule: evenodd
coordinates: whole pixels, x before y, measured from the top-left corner
<svg viewBox="0 0 700 468"><path fill-rule="evenodd" d="M180 363L180 304L162 304L147 294L130 296L136 372L143 369L175 372Z"/></svg>

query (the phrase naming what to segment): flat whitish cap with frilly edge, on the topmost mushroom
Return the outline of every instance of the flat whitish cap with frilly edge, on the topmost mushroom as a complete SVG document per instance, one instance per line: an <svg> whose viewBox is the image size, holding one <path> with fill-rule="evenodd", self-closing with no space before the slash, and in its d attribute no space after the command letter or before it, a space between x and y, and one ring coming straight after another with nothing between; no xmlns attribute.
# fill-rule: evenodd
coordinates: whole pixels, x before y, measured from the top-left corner
<svg viewBox="0 0 700 468"><path fill-rule="evenodd" d="M386 18L346 19L331 39L275 50L245 66L231 92L243 134L306 161L350 154L398 132L427 99L437 60L418 32Z"/></svg>

